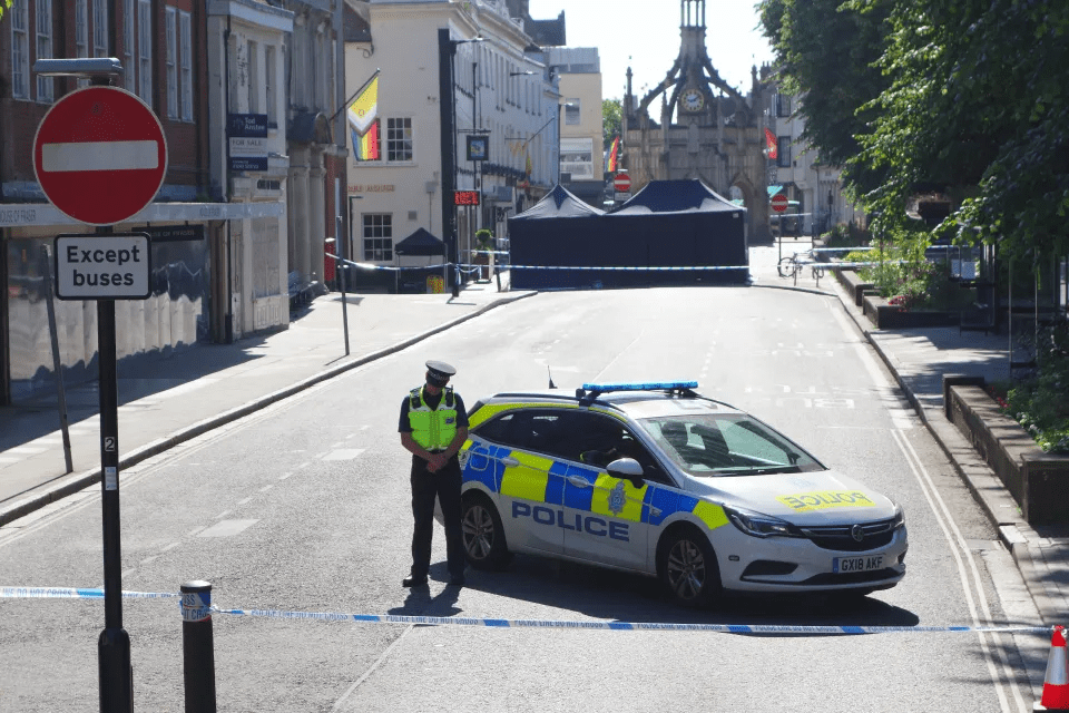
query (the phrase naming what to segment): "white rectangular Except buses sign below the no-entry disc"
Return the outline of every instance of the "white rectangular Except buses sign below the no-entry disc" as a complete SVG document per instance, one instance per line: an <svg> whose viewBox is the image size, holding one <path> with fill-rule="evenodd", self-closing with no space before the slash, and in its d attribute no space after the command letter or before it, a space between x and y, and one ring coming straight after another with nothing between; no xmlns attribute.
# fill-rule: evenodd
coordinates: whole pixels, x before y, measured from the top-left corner
<svg viewBox="0 0 1069 713"><path fill-rule="evenodd" d="M151 294L147 233L57 235L53 254L60 300L145 300Z"/></svg>

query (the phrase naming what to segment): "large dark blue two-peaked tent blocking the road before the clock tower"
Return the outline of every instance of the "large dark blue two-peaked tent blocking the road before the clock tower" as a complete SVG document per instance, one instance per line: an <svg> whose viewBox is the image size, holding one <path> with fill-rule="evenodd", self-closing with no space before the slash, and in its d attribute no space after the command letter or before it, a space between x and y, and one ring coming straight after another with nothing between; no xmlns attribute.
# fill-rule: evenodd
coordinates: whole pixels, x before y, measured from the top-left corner
<svg viewBox="0 0 1069 713"><path fill-rule="evenodd" d="M557 186L509 221L512 285L522 289L746 282L745 208L700 180L654 180L602 214ZM641 270L549 270L549 267ZM739 270L648 270L728 266Z"/></svg>

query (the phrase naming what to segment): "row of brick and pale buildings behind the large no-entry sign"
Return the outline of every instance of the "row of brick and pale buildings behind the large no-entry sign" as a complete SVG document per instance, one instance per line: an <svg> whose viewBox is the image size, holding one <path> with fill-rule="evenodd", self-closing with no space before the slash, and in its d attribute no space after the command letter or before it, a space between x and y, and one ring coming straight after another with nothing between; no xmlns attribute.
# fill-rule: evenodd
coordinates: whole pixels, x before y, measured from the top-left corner
<svg viewBox="0 0 1069 713"><path fill-rule="evenodd" d="M95 378L95 301L47 316L46 251L90 233L51 205L33 169L41 119L87 78L39 59L114 57L111 84L159 119L167 172L116 233L145 232L151 294L116 302L117 356L153 359L198 341L284 329L288 293L322 287L324 246L344 222L342 0L17 0L0 23L0 403ZM290 209L287 211L287 205ZM52 349L51 343L58 344Z"/></svg>

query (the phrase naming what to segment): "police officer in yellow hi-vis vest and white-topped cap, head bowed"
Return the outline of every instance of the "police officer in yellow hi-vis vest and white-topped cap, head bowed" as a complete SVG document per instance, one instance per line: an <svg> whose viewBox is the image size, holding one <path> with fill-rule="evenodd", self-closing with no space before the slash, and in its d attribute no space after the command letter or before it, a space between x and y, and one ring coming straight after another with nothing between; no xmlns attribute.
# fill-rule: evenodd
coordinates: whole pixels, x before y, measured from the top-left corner
<svg viewBox="0 0 1069 713"><path fill-rule="evenodd" d="M412 453L412 572L401 584L426 584L434 533L434 497L445 520L449 583L464 584L464 541L460 520L460 461L457 451L468 439L468 411L449 378L457 370L441 361L426 362L426 383L409 392L401 403L401 445Z"/></svg>

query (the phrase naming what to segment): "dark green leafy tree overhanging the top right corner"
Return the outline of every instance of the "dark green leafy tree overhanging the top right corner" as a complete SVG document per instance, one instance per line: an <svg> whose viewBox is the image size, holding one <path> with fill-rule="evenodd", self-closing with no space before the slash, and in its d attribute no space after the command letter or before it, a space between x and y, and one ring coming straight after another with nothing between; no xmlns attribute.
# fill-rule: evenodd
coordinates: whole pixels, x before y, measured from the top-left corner
<svg viewBox="0 0 1069 713"><path fill-rule="evenodd" d="M880 0L851 0L866 11ZM1003 255L1069 246L1069 3L895 0L879 65L891 85L849 165L892 177L869 195L898 219L918 184L957 211L940 232Z"/></svg>

